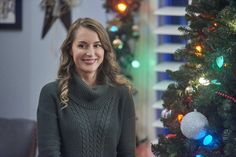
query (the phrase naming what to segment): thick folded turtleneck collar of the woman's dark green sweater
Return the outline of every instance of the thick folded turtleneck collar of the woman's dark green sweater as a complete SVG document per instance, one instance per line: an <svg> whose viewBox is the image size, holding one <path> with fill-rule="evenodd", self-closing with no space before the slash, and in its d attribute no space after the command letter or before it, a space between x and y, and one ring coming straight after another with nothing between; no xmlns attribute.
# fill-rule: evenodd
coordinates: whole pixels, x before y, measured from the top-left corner
<svg viewBox="0 0 236 157"><path fill-rule="evenodd" d="M94 101L107 92L108 85L96 85L89 87L76 72L72 72L72 79L69 86L69 95L74 100L86 102Z"/></svg>

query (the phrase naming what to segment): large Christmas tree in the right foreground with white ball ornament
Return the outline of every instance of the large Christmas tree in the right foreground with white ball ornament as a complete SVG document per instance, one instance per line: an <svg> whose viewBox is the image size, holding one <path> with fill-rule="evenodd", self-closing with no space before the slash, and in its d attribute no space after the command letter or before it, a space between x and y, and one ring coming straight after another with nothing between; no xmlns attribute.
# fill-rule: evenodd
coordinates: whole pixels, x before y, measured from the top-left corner
<svg viewBox="0 0 236 157"><path fill-rule="evenodd" d="M175 83L162 96L167 128L152 152L160 157L233 157L236 154L236 1L192 0L187 39L168 71Z"/></svg>

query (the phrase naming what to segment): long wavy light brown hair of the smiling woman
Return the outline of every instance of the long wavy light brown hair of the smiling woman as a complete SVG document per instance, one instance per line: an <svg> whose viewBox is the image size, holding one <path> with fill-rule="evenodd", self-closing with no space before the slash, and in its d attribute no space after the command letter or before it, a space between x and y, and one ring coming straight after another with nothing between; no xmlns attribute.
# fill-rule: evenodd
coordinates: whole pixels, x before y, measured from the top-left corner
<svg viewBox="0 0 236 157"><path fill-rule="evenodd" d="M97 81L110 82L111 85L125 85L129 91L132 91L130 81L120 74L120 67L116 62L116 56L112 48L106 29L96 20L91 18L79 18L72 23L67 37L61 45L60 66L58 70L59 96L62 105L68 105L68 86L71 79L71 72L75 68L73 58L70 54L72 43L76 37L77 30L80 27L88 28L98 34L102 47L104 49L104 60L98 67Z"/></svg>

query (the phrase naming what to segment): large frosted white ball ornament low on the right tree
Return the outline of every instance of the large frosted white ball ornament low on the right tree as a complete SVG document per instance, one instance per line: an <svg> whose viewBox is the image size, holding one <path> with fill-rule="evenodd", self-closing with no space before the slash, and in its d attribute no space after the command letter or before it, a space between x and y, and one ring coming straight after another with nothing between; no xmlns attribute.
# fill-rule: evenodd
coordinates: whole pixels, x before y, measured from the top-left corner
<svg viewBox="0 0 236 157"><path fill-rule="evenodd" d="M207 118L200 112L189 112L183 117L180 129L183 135L189 139L198 140L206 135Z"/></svg>

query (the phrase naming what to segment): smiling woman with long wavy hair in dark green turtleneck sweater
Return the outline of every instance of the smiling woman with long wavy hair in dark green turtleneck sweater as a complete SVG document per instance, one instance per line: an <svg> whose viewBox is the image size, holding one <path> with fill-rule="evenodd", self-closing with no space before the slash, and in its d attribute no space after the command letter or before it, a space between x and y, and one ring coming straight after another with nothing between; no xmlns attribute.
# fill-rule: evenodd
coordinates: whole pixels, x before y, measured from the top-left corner
<svg viewBox="0 0 236 157"><path fill-rule="evenodd" d="M40 93L39 157L134 157L131 85L104 27L76 20L61 52L58 79Z"/></svg>

